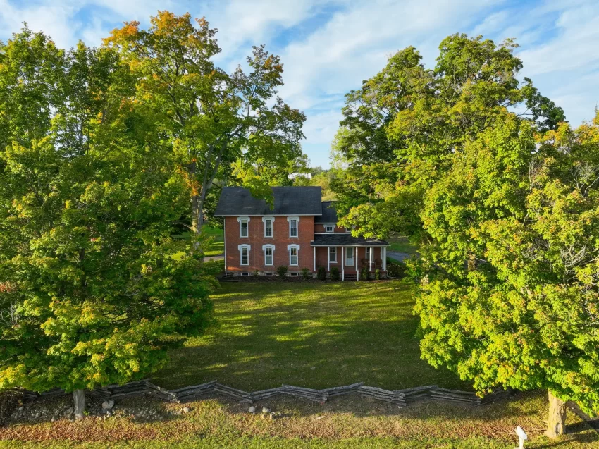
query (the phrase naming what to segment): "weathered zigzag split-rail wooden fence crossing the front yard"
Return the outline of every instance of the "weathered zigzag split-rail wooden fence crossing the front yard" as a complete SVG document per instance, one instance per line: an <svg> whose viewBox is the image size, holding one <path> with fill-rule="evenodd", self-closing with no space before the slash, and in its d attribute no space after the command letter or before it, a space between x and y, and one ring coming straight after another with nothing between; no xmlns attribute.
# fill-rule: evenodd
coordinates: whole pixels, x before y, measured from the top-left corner
<svg viewBox="0 0 599 449"><path fill-rule="evenodd" d="M208 383L202 383L201 385L188 386L178 388L176 390L166 390L165 388L156 386L154 383L151 383L147 380L125 383L125 385L122 386L113 385L104 388L94 388L94 390L89 390L88 393L93 397L106 399L123 398L133 395L150 395L154 398L168 400L170 402L185 402L188 400L194 400L203 395L219 394L245 404L252 404L260 400L272 398L276 395L288 395L294 398L301 398L315 402L326 402L331 398L352 394L381 400L384 402L390 402L399 407L406 407L407 405L410 405L414 402L419 402L421 400L436 400L458 402L469 405L483 405L495 400L508 398L510 396L510 391L497 390L489 395L486 395L485 398L478 398L478 396L474 393L459 390L448 390L447 388L439 388L436 385L405 388L403 390L384 390L383 388L364 386L364 383L362 382L347 386L324 388L323 390L283 385L277 388L247 393L243 390L237 390L236 388L222 385L217 381L211 381ZM65 392L58 388L42 394L26 391L23 392L23 399L36 400L37 398L51 398L64 394Z"/></svg>

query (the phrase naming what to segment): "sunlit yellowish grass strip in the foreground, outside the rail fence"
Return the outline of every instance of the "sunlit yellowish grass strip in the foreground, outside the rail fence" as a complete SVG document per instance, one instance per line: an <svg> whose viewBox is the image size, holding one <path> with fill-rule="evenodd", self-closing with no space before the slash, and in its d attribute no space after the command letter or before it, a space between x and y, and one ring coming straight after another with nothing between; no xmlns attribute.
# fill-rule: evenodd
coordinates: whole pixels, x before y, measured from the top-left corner
<svg viewBox="0 0 599 449"><path fill-rule="evenodd" d="M547 410L543 392L517 393L512 400L484 407L431 402L399 409L350 396L324 404L285 397L257 404L280 412L274 420L249 414L247 405L223 398L185 405L190 413L165 417L165 412L183 405L118 399L116 416L106 421L94 416L81 422L12 422L0 427L0 448L512 449L518 425L529 434L527 449L599 447L597 433L573 413L568 413L566 436L555 441L543 437ZM120 407L151 407L163 417L138 419L121 414Z"/></svg>

